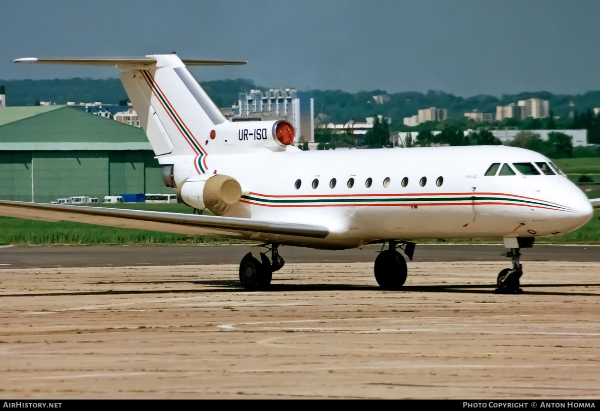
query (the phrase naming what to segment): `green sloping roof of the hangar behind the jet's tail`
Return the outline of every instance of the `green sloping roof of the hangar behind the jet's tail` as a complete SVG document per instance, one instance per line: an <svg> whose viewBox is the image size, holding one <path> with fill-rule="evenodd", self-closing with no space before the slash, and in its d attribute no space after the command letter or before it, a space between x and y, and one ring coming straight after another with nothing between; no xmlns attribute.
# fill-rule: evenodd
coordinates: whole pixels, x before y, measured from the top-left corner
<svg viewBox="0 0 600 411"><path fill-rule="evenodd" d="M0 150L152 150L143 129L68 105L0 108Z"/></svg>

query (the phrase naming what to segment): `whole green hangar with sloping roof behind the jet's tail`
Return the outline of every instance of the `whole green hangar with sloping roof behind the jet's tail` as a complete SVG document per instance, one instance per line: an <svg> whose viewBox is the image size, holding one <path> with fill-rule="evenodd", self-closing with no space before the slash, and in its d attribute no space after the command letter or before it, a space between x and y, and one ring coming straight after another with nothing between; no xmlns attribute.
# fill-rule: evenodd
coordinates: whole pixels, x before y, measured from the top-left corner
<svg viewBox="0 0 600 411"><path fill-rule="evenodd" d="M164 192L143 129L68 105L0 107L0 200Z"/></svg>

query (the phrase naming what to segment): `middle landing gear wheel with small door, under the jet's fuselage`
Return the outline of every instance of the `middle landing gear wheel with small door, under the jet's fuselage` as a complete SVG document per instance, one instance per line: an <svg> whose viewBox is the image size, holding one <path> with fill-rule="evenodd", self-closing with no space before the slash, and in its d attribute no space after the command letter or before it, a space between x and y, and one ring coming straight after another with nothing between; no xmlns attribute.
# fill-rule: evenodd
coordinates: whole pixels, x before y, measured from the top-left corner
<svg viewBox="0 0 600 411"><path fill-rule="evenodd" d="M380 252L375 259L375 279L382 288L395 290L404 285L408 273L406 260L396 249L403 250L412 261L415 243L395 240L389 240L388 243L388 249ZM400 246L398 246L398 243L400 243ZM402 248L403 246L404 248Z"/></svg>

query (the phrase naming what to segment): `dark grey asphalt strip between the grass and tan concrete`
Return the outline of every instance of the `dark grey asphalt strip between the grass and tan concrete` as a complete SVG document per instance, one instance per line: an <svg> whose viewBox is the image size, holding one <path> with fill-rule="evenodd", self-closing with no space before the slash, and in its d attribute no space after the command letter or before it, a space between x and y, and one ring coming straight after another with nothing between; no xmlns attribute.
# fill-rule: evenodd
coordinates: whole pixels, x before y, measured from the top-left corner
<svg viewBox="0 0 600 411"><path fill-rule="evenodd" d="M280 247L288 263L374 262L380 245L340 251ZM136 265L239 264L250 247L243 245L16 246L0 247L0 267L111 267ZM418 244L415 261L505 261L502 244ZM527 261L596 261L600 246L540 245L521 249Z"/></svg>

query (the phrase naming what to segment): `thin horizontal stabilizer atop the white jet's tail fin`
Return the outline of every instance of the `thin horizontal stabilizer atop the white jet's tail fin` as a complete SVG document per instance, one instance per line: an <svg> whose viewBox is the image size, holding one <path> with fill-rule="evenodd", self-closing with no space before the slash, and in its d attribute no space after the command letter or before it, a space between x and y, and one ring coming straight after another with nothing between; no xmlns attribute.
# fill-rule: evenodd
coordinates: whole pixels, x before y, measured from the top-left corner
<svg viewBox="0 0 600 411"><path fill-rule="evenodd" d="M149 66L156 63L155 58L73 58L73 59L38 59L26 57L13 60L14 63L39 63L39 64L67 64L83 66ZM223 60L193 60L182 59L187 66L227 66L247 64L247 61L223 61Z"/></svg>

